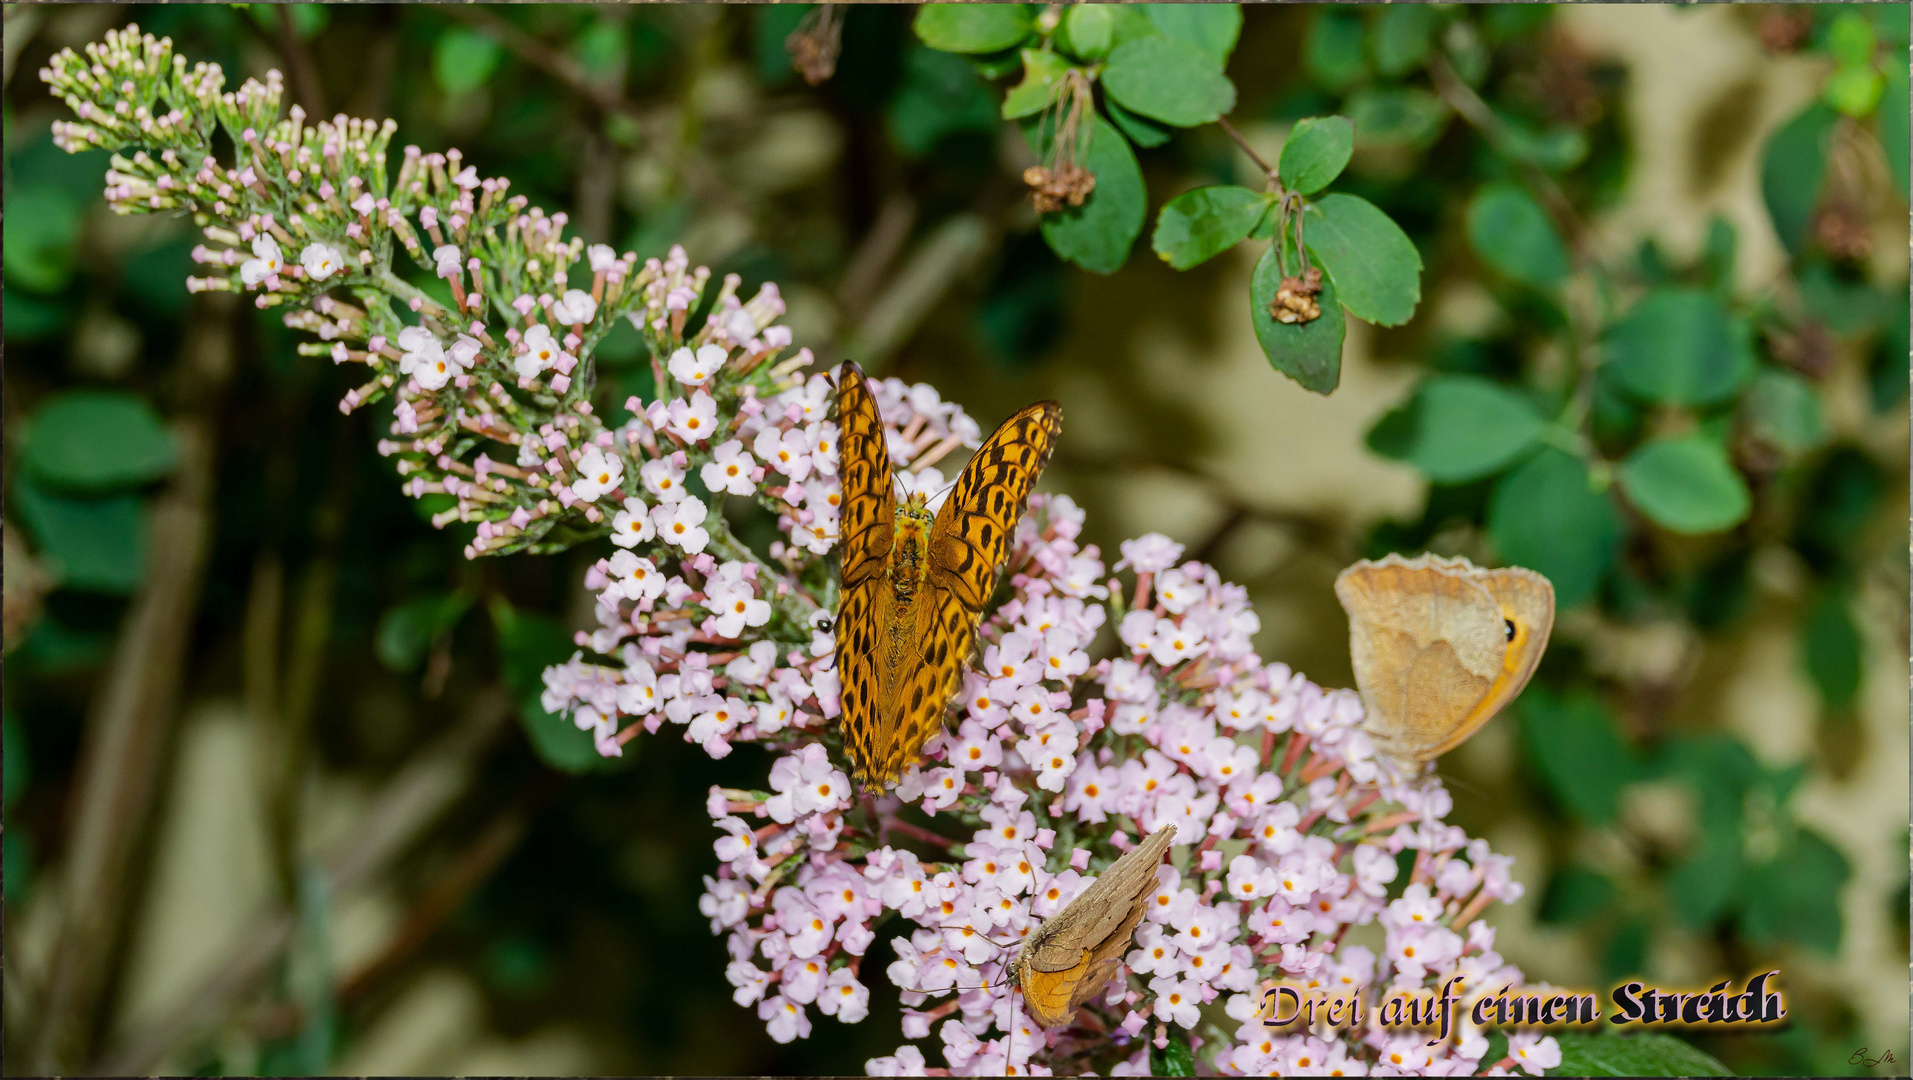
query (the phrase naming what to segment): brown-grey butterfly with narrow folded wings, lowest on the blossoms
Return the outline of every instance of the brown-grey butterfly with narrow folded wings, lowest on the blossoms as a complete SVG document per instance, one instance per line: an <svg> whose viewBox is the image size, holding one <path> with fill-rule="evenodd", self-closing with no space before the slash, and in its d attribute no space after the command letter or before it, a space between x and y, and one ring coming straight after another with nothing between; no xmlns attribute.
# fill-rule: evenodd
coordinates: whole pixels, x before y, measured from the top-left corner
<svg viewBox="0 0 1913 1080"><path fill-rule="evenodd" d="M1023 990L1029 1019L1046 1028L1067 1023L1110 984L1155 895L1155 866L1173 839L1175 826L1150 833L1023 940L1010 977Z"/></svg>

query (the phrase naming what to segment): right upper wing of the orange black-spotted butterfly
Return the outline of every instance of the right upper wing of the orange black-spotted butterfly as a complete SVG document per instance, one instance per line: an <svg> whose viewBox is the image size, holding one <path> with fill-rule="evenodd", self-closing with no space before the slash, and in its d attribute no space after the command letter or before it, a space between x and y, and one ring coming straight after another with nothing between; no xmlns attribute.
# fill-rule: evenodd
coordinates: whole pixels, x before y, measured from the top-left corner
<svg viewBox="0 0 1913 1080"><path fill-rule="evenodd" d="M937 524L930 529L930 583L970 608L997 589L997 575L1010 552L1016 524L1023 520L1029 489L1056 449L1064 409L1037 401L1004 421L976 451L956 480ZM964 652L968 652L964 640Z"/></svg>

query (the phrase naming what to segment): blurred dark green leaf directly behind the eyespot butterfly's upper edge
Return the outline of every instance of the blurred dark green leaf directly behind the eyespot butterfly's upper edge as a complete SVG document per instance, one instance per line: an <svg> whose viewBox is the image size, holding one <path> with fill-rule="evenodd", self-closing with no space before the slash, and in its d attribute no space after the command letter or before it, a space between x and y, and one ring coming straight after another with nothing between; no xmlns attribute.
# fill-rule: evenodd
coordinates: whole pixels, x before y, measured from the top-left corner
<svg viewBox="0 0 1913 1080"><path fill-rule="evenodd" d="M1504 476L1488 497L1494 551L1553 581L1559 610L1594 596L1622 533L1620 510L1594 489L1588 464L1551 445Z"/></svg>

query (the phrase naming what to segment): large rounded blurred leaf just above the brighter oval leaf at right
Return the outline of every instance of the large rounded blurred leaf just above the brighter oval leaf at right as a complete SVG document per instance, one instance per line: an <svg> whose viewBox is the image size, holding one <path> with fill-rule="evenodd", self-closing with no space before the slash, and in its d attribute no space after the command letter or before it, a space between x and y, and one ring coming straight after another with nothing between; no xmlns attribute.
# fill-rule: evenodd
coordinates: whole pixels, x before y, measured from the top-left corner
<svg viewBox="0 0 1913 1080"><path fill-rule="evenodd" d="M1752 331L1701 289L1657 289L1601 344L1609 375L1636 398L1712 405L1752 375Z"/></svg>

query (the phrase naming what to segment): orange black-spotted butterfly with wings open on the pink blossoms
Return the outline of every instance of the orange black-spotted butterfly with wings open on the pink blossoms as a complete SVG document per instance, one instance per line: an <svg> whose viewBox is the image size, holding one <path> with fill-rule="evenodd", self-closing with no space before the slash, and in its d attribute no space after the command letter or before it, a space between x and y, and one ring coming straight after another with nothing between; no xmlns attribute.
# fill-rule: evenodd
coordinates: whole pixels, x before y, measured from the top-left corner
<svg viewBox="0 0 1913 1080"><path fill-rule="evenodd" d="M893 786L941 726L1060 424L1056 401L1004 421L932 516L924 491L897 503L876 400L855 363L838 369L838 669L844 753L865 789Z"/></svg>

